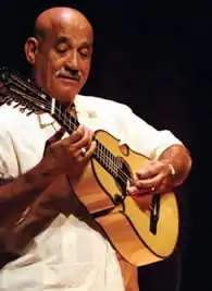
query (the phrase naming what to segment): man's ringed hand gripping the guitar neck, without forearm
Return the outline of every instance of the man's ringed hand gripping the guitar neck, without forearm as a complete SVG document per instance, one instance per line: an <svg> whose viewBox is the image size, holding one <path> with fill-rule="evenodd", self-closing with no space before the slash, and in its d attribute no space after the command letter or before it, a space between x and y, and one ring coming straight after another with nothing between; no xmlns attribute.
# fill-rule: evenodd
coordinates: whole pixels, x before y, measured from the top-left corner
<svg viewBox="0 0 212 291"><path fill-rule="evenodd" d="M42 165L49 174L68 173L71 181L78 180L95 151L93 132L84 125L72 135L49 145L46 149ZM85 156L82 148L86 149Z"/></svg>

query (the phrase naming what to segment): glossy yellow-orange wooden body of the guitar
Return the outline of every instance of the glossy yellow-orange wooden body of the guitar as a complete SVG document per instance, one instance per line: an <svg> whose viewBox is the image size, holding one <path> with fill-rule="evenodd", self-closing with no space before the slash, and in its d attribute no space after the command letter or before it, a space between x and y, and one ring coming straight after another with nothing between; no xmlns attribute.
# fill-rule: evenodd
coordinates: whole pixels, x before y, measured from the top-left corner
<svg viewBox="0 0 212 291"><path fill-rule="evenodd" d="M104 131L96 132L101 144L126 161L128 172L140 169L148 159L130 150L121 149L119 141ZM107 158L107 157L104 157ZM175 248L178 238L178 208L175 194L160 195L160 211L157 232L150 231L152 195L144 195L134 201L127 195L123 203L114 203L122 195L117 181L95 159L89 162L80 182L74 186L78 198L91 214L108 209L105 215L96 218L105 231L114 248L129 263L136 266L161 260Z"/></svg>

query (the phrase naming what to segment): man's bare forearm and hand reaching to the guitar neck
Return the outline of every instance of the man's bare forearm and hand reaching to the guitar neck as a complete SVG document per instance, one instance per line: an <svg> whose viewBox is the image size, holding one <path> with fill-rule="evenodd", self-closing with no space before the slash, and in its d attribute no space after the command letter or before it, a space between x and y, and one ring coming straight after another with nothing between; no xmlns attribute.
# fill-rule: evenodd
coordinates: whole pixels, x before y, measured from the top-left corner
<svg viewBox="0 0 212 291"><path fill-rule="evenodd" d="M61 174L68 174L71 183L77 182L95 151L96 143L92 136L93 133L89 129L80 125L68 137L50 144L38 165L0 186L0 206L5 207L5 203L12 203L16 207L16 202L25 205L26 199L41 194ZM85 156L82 155L84 147Z"/></svg>

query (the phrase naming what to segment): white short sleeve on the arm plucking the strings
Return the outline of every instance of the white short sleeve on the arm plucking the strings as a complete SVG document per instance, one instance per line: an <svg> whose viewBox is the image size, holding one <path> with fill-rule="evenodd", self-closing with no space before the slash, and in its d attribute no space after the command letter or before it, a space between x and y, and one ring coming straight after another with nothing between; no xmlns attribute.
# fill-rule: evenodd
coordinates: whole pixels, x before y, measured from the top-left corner
<svg viewBox="0 0 212 291"><path fill-rule="evenodd" d="M169 130L154 129L125 105L122 106L119 116L119 126L123 136L121 143L126 143L133 150L150 159L158 159L172 145L183 144Z"/></svg>

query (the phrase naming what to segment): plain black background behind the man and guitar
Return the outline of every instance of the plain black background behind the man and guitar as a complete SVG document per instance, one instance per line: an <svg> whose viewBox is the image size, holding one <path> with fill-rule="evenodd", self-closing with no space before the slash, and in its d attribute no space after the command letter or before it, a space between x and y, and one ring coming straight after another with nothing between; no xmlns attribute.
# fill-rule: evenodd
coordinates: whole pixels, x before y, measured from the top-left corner
<svg viewBox="0 0 212 291"><path fill-rule="evenodd" d="M25 72L23 45L35 16L54 5L76 8L96 32L92 70L83 93L129 105L157 129L170 129L191 153L192 171L177 190L182 221L177 251L139 269L140 290L212 290L212 4L199 0L24 2L1 1L1 65Z"/></svg>

